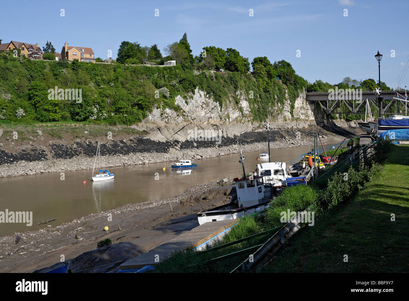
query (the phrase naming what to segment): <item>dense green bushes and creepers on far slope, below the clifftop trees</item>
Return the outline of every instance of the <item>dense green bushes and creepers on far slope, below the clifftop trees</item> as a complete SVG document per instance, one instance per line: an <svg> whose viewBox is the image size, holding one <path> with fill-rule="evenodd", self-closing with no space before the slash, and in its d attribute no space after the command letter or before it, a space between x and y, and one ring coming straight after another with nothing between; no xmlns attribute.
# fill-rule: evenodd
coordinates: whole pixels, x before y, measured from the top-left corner
<svg viewBox="0 0 409 301"><path fill-rule="evenodd" d="M124 53L127 51L124 48ZM279 72L285 70L282 68L276 74ZM291 74L286 82L289 94L296 89L289 86L297 78L295 73ZM0 120L19 123L89 121L129 125L140 122L155 107L180 111L180 107L175 105L175 96L186 97L198 87L221 107L231 98L239 104L236 93L244 91L253 119L263 121L267 117L267 106L271 108L284 102L285 86L274 78L263 81L262 86L259 81L240 72L216 72L213 75L206 70L183 69L181 65L147 67L67 60L32 61L2 53ZM49 89L55 90L56 86L64 90L81 89L81 102L77 103L74 97L58 99L58 95L49 99ZM164 88L169 94L164 93ZM161 93L157 95L155 91ZM159 98L155 98L155 95ZM228 116L222 118L227 120Z"/></svg>

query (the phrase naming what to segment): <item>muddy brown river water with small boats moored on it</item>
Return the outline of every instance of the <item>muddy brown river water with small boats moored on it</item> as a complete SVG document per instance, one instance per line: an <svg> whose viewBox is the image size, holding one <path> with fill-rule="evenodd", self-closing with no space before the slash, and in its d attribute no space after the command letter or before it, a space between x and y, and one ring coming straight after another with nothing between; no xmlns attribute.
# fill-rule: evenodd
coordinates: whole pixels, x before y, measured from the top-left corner
<svg viewBox="0 0 409 301"><path fill-rule="evenodd" d="M336 143L336 142L335 142ZM327 143L332 145L335 143ZM309 151L308 146L271 149L271 161L287 162ZM245 171L252 172L262 151L246 152ZM109 168L115 178L106 181L88 181L92 170L65 171L60 173L34 174L0 179L0 211L32 211L32 225L0 223L0 235L12 235L14 231L34 231L38 222L57 219L53 226L71 222L90 213L99 213L124 204L140 203L180 195L185 189L224 178L240 177L243 173L238 162L240 154L198 160L191 174L181 174L171 168L172 162L151 163ZM162 168L166 167L163 171ZM103 167L101 167L103 168ZM155 180L158 173L159 180ZM85 176L84 176L85 174ZM83 181L87 181L84 185ZM155 210L155 208L152 208ZM44 228L46 225L40 225Z"/></svg>

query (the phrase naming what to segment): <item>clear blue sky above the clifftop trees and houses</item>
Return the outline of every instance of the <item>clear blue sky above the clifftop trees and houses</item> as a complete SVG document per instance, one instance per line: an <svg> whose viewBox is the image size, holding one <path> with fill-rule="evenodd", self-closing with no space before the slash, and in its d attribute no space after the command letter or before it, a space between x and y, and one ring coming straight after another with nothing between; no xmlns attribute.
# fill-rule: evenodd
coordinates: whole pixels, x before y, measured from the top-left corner
<svg viewBox="0 0 409 301"><path fill-rule="evenodd" d="M61 16L64 9L65 16ZM159 16L155 17L155 9ZM254 16L249 16L253 9ZM344 16L348 9L348 16ZM65 41L116 57L121 41L157 44L162 51L187 32L193 55L204 46L235 48L251 62L289 61L297 74L336 84L342 78L381 80L396 87L409 55L409 1L42 1L2 3L2 43L10 40L57 52ZM25 21L24 21L25 20ZM16 22L17 21L17 22ZM296 57L301 50L301 57ZM391 57L391 50L395 57ZM409 86L407 75L400 86Z"/></svg>

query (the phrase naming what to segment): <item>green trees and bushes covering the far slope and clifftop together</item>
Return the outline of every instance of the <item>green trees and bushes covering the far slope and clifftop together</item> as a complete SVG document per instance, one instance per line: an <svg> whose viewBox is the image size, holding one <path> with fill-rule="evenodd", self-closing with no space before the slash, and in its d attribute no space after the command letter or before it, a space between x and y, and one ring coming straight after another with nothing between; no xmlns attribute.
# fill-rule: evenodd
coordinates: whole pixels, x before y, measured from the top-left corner
<svg viewBox="0 0 409 301"><path fill-rule="evenodd" d="M52 45L50 45L52 46ZM79 61L33 61L14 57L12 50L0 53L0 122L92 122L108 125L131 125L141 122L153 108L169 108L185 114L175 105L175 97L205 91L222 108L232 102L243 111L239 91L245 93L253 121L264 121L267 108L290 100L294 102L304 91L306 80L297 75L287 61L271 63L267 57L255 57L252 75L250 63L236 49L203 47L200 56L193 57L184 34L179 42L165 48L162 57L157 45L141 47L139 43L123 41L118 59L113 64ZM174 59L176 66L148 67L143 61L163 63ZM227 72L214 72L225 68ZM369 82L368 82L369 83ZM364 81L366 88L372 86ZM371 82L372 83L372 82ZM307 86L307 91L321 91L321 81ZM326 83L327 84L327 83ZM341 85L340 83L339 85ZM365 86L365 84L367 84ZM324 86L323 86L324 85ZM344 84L345 85L345 84ZM328 86L328 85L327 85ZM50 97L49 89L81 89L81 102ZM326 86L325 86L326 87ZM54 98L54 99L53 99ZM65 98L65 97L61 97ZM283 110L283 106L279 110ZM328 115L326 118L336 118ZM361 115L350 118L360 119ZM229 121L229 116L223 116Z"/></svg>

